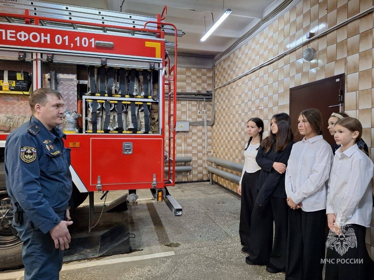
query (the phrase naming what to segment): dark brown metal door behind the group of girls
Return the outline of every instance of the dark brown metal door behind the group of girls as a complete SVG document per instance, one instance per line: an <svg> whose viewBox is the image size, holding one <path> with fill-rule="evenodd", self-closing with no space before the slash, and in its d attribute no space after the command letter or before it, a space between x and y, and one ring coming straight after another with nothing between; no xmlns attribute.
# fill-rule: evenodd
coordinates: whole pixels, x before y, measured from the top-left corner
<svg viewBox="0 0 374 280"><path fill-rule="evenodd" d="M339 105L343 105L344 74L290 88L289 95L289 114L295 142L303 139L297 129L299 113L308 108L316 108L322 113L322 135L333 146L335 141L328 132L327 121L331 113L339 112ZM342 108L344 109L344 105Z"/></svg>

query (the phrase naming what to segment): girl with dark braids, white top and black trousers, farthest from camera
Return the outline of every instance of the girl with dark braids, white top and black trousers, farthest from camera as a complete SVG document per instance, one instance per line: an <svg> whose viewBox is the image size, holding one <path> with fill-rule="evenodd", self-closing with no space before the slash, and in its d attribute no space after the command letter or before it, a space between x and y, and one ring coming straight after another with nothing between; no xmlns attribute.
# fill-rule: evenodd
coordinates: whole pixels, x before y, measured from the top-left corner
<svg viewBox="0 0 374 280"><path fill-rule="evenodd" d="M237 192L242 196L240 207L239 235L242 243L242 253L247 254L249 235L251 232L251 215L257 198L257 179L260 167L256 162L257 150L262 141L264 122L260 118L251 118L247 122L248 143L244 149L244 167Z"/></svg>

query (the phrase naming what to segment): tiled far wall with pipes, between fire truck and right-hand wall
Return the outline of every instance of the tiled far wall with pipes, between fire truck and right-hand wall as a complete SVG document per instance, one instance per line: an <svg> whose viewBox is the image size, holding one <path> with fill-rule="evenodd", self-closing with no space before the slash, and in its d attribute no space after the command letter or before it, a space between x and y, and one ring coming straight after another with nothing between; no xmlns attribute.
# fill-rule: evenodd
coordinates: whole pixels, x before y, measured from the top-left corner
<svg viewBox="0 0 374 280"><path fill-rule="evenodd" d="M212 69L177 68L177 92L206 92L212 90ZM199 106L200 105L200 106ZM200 113L198 110L200 107ZM212 104L206 102L206 118L212 119ZM177 121L204 121L203 102L191 100L177 101ZM165 140L168 145L168 102L165 103ZM192 172L177 173L176 181L208 180L209 175L205 164L205 131L203 126L190 126L189 132L177 132L176 157L190 156ZM212 127L207 126L207 147L212 149ZM169 150L166 147L167 150ZM207 162L208 164L208 162ZM177 165L184 165L178 163Z"/></svg>

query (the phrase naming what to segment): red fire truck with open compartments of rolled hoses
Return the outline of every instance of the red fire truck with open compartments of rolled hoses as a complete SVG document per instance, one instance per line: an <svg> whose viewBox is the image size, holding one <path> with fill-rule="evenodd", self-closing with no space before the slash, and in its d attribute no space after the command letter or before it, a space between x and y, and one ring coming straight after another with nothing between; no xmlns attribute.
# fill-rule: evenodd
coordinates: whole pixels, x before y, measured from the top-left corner
<svg viewBox="0 0 374 280"><path fill-rule="evenodd" d="M156 201L182 214L166 188L175 184L177 37L183 32L165 22L166 12L165 6L149 17L0 0L0 159L14 124L31 116L30 92L58 90L66 109L62 130L71 149L73 204L89 196L91 225L93 193L110 190L128 190L122 202L134 203L137 189L150 189ZM170 47L174 65L165 50ZM0 165L1 269L19 266L21 241Z"/></svg>

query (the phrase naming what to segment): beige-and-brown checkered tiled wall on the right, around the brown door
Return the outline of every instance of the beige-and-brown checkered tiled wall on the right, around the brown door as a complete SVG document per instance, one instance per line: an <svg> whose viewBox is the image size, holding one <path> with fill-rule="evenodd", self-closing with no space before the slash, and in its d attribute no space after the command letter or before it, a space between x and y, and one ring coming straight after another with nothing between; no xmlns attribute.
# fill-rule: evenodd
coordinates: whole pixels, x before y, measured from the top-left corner
<svg viewBox="0 0 374 280"><path fill-rule="evenodd" d="M306 41L308 32L315 32L317 36L372 6L373 0L299 1L215 66L215 87ZM345 110L361 121L363 138L371 146L373 159L373 32L373 13L370 13L218 88L212 128L214 155L243 164L243 148L248 140L245 124L249 118L264 119L266 136L272 115L289 113L289 88L345 73ZM316 51L310 62L302 58L307 47ZM235 183L217 176L214 180L236 191ZM374 257L374 227L368 229L367 243L372 245L368 245L368 251Z"/></svg>

